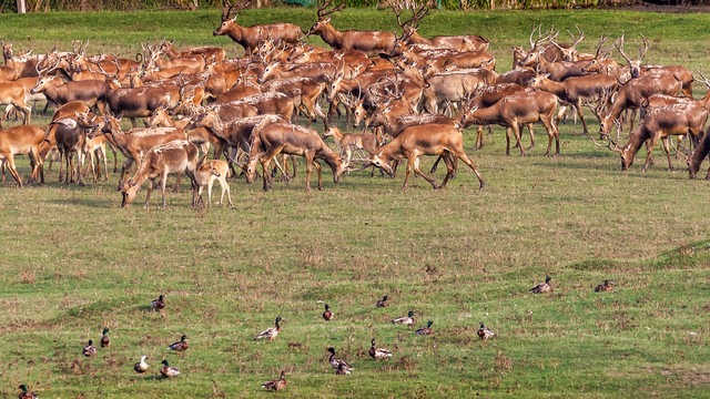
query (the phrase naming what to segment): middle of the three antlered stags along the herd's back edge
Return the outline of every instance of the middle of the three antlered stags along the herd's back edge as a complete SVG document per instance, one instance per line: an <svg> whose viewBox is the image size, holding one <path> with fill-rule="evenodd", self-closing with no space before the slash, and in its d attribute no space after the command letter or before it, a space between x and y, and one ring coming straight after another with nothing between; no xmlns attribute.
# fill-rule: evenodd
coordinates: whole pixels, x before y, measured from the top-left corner
<svg viewBox="0 0 710 399"><path fill-rule="evenodd" d="M318 21L308 29L306 35L317 34L323 41L328 43L335 50L359 50L368 57L377 57L379 53L388 54L395 45L396 37L392 32L383 31L339 31L331 24L329 14L341 11L345 8L345 3L326 10L333 0L324 1L321 4L318 0L318 9L316 16Z"/></svg>

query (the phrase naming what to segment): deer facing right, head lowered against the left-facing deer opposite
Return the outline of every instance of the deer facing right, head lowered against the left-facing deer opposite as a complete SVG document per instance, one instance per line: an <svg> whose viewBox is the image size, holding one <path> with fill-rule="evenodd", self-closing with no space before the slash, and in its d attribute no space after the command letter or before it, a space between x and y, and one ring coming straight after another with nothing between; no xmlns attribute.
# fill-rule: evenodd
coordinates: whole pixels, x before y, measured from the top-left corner
<svg viewBox="0 0 710 399"><path fill-rule="evenodd" d="M280 153L300 155L306 158L306 192L311 192L311 174L315 165L318 172L318 190L323 190L321 165L315 160L323 160L333 171L333 182L338 183L345 170L345 163L318 133L310 127L291 123L267 123L252 132L253 141L246 167L246 182L254 181L256 162L262 164L264 191L272 188L272 176L267 173L268 164Z"/></svg>

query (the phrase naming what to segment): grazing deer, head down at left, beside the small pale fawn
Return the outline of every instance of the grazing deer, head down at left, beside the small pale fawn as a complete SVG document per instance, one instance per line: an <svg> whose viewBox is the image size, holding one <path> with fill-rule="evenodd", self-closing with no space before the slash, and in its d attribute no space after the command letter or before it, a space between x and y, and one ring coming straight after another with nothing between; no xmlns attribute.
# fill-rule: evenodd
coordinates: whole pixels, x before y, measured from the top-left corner
<svg viewBox="0 0 710 399"><path fill-rule="evenodd" d="M163 208L168 206L165 200L165 183L168 182L168 175L170 173L178 173L180 176L183 172L192 181L192 187L196 188L195 172L200 165L197 165L197 147L194 144L185 140L171 141L164 144L159 144L151 147L145 158L138 167L138 171L129 183L121 190L123 194L123 201L121 207L128 207L135 198L138 190L141 187L145 180L150 178L151 184L148 185L148 193L145 194L144 208L149 208L151 192L155 185L155 178L161 178L161 193L163 195ZM193 191L192 205L196 204L196 190Z"/></svg>

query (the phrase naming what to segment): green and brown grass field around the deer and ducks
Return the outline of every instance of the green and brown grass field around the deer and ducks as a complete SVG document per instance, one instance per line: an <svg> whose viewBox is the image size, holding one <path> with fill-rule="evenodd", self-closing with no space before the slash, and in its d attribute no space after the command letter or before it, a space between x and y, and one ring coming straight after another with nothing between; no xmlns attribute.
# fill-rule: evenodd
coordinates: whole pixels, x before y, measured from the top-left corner
<svg viewBox="0 0 710 399"><path fill-rule="evenodd" d="M245 23L295 21L311 10L244 12ZM390 12L348 10L341 29L387 29ZM134 53L141 40L222 44L219 11L3 16L0 35L16 49ZM509 45L527 43L529 27L578 23L595 47L602 29L652 40L648 62L699 65L710 49L710 17L612 11L442 12L425 35L480 33L491 39L498 72ZM627 39L628 40L628 39ZM313 39L315 42L316 40ZM697 95L704 93L696 88ZM38 124L47 119L33 115ZM594 122L592 122L594 124ZM487 186L462 167L444 191L422 178L402 192L403 174L369 172L304 192L291 184L232 178L233 208L190 208L186 184L159 195L150 211L120 208L116 175L87 187L57 182L0 186L0 396L20 383L43 398L270 397L260 385L286 370L286 397L703 397L710 385L710 225L702 209L708 183L684 166L641 173L643 151L627 173L616 154L597 149L581 127L562 125L561 152L505 156L503 130L469 152ZM594 127L592 127L594 130ZM466 146L473 145L470 133ZM433 160L426 160L425 166ZM20 173L29 167L21 160ZM443 178L443 171L437 172ZM555 291L527 294L546 275ZM596 294L605 279L612 293ZM150 311L158 295L164 313ZM376 309L382 295L392 306ZM329 304L335 319L321 318ZM416 311L434 320L434 337L388 323ZM256 334L285 319L278 338ZM485 321L496 337L476 337ZM88 339L110 328L112 347L81 356ZM165 347L182 334L184 357ZM367 356L369 340L394 352ZM327 347L355 367L335 376ZM151 369L136 376L140 355ZM182 375L163 380L169 359Z"/></svg>

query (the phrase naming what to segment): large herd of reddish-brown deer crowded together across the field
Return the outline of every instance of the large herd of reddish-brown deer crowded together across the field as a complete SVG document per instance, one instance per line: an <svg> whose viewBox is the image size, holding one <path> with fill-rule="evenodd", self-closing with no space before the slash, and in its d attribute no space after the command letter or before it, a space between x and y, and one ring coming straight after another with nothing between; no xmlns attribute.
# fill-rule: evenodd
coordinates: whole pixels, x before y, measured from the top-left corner
<svg viewBox="0 0 710 399"><path fill-rule="evenodd" d="M165 40L142 44L143 52L135 60L114 54L87 55L88 42L73 42L71 52L53 49L40 55L13 54L12 44L3 42L3 181L7 165L22 186L13 156L27 154L32 166L29 183L43 182L43 160L53 151L62 160L60 181L83 184L82 165L87 158L91 160L93 181L102 174L105 180L108 144L114 155L114 172L116 150L125 157L119 180L123 206L131 203L146 178L153 184L161 180L164 206L168 174L176 173L179 185L183 172L192 182L193 204L201 201L205 185L211 193L214 180L223 186L222 195L227 191L231 203L225 177L230 170L234 173L233 165L241 167L247 182L253 182L261 163L264 190L270 190L277 171L286 180L295 176L295 161L290 171L287 155L306 158L308 191L314 166L318 188L323 187L318 161L332 168L337 183L344 171L369 166L394 176L397 162L404 157L408 163L403 188L413 170L434 188L444 187L455 176L459 158L474 171L483 188L484 181L464 151L464 129L478 126L475 149L480 149L484 125L489 130L491 124L505 126L506 153L510 154L513 134L520 155L525 155L520 129L528 127L532 147L532 124L540 122L548 135L545 155L558 155L557 126L568 106L579 115L585 133L588 130L584 108L592 110L599 119L600 139L608 141L595 144L620 153L623 170L647 143L646 170L658 140L663 143L672 168L671 135L692 139L694 152L684 154L691 177L710 152L710 135L703 134L710 81L698 71L709 90L703 99L694 100L693 75L686 68L641 64L649 49L646 38L643 47L639 45L638 59L625 52L623 35L608 48L604 47L607 37L602 35L596 53L585 54L577 51L585 38L579 28L577 33L568 31L574 40L569 45L557 41L559 32L542 32L538 27L530 33L529 48L513 49L513 70L498 74L485 38L426 39L417 34L432 3L413 8L412 17L403 21L406 10L393 2L390 7L403 31L397 37L383 31L337 30L331 24L331 14L345 4L331 7L332 1L318 4L317 22L307 31L291 23L241 27L234 14L248 1L227 1L222 23L213 34L229 35L244 48L244 57L235 59L226 58L217 47L179 51ZM332 50L305 44L312 34L323 38ZM615 48L626 65L609 58ZM679 96L681 93L683 96ZM30 124L31 101L47 101L55 110L47 126ZM327 105L327 112L322 104ZM342 110L348 124L364 123L362 133L345 134L331 124ZM637 110L641 117L633 129ZM625 116L628 111L630 117ZM16 119L23 114L24 124L2 129L2 122L13 112ZM294 124L301 115L307 120L305 126ZM121 129L123 116L132 123L130 131ZM138 127L138 119L145 119L145 127ZM630 122L631 133L628 143L619 146L625 119ZM325 126L323 137L310 127L317 120ZM615 125L617 141L611 139ZM341 147L341 154L325 144L328 136ZM210 146L214 147L215 160L205 162ZM229 167L219 161L222 154ZM438 156L437 164L444 161L447 173L440 185L419 168L422 155ZM276 165L273 171L272 161ZM362 166L352 166L353 161L363 161ZM138 172L129 180L133 163Z"/></svg>

